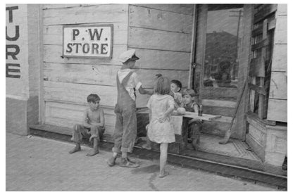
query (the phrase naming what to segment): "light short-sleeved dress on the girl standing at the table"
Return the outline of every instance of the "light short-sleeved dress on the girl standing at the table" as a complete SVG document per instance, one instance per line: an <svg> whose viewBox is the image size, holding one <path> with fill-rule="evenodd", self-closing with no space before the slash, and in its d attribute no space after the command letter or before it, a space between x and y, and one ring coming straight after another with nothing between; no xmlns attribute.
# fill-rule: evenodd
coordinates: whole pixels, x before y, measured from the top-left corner
<svg viewBox="0 0 293 195"><path fill-rule="evenodd" d="M148 137L158 144L175 142L175 132L170 125L170 115L165 122L158 122L158 118L165 113L170 105L174 105L174 99L170 95L154 94L146 106L151 109L151 122L148 128Z"/></svg>

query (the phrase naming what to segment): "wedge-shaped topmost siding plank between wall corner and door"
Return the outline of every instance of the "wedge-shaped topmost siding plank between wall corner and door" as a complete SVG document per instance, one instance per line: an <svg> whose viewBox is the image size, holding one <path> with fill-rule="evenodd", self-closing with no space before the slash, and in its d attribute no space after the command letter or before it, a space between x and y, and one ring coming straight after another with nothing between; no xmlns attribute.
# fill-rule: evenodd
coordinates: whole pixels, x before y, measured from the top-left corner
<svg viewBox="0 0 293 195"><path fill-rule="evenodd" d="M146 8L154 8L162 11L171 11L176 13L193 14L193 4L133 4Z"/></svg>

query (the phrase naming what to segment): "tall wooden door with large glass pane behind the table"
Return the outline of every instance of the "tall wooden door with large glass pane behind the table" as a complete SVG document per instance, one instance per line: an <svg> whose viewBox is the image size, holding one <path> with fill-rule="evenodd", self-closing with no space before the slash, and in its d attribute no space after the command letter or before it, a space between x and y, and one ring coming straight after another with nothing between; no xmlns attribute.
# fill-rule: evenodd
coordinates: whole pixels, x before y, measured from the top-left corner
<svg viewBox="0 0 293 195"><path fill-rule="evenodd" d="M227 123L235 110L241 74L243 11L243 4L204 4L197 8L193 86L204 113L222 115ZM226 127L213 125L205 130L223 135Z"/></svg>

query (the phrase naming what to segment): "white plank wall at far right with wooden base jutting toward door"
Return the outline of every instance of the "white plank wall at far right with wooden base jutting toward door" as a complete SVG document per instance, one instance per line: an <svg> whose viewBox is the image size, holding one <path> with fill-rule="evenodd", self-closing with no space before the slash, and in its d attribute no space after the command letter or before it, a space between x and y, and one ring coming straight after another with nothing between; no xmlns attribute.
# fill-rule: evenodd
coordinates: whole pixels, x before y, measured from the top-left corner
<svg viewBox="0 0 293 195"><path fill-rule="evenodd" d="M280 166L287 155L287 4L276 8L267 114L267 120L275 124L248 114L246 140L264 162Z"/></svg>

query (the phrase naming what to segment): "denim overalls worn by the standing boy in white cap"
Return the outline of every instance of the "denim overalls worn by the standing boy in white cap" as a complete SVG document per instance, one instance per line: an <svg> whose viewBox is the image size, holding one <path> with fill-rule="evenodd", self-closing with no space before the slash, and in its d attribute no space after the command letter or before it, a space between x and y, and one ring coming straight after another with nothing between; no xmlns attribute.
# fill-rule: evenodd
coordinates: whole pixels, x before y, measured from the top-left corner
<svg viewBox="0 0 293 195"><path fill-rule="evenodd" d="M114 130L113 152L132 152L137 137L137 111L135 101L130 97L125 84L133 72L130 72L122 81L118 80L118 98L115 106L116 124Z"/></svg>

